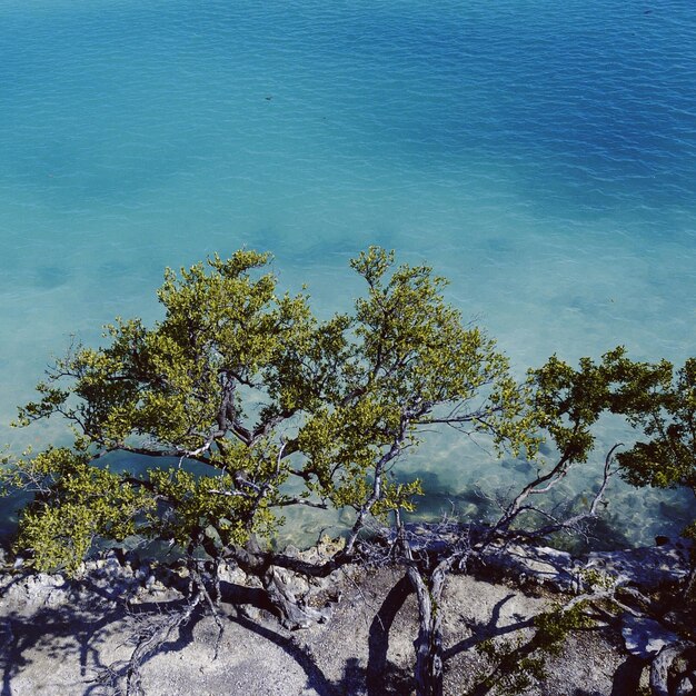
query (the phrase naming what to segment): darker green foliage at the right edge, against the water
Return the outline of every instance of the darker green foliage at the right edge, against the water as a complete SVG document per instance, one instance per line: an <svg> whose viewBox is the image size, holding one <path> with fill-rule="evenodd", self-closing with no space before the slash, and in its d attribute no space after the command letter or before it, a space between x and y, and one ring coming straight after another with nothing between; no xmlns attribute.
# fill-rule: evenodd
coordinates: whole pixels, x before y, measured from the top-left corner
<svg viewBox="0 0 696 696"><path fill-rule="evenodd" d="M639 432L634 446L616 455L623 478L696 495L696 358L675 374L667 360L634 361L623 347L599 362L581 358L578 369L553 356L530 372L530 384L539 426L569 464L587 459L594 424L612 412Z"/></svg>

